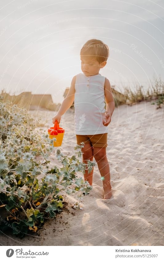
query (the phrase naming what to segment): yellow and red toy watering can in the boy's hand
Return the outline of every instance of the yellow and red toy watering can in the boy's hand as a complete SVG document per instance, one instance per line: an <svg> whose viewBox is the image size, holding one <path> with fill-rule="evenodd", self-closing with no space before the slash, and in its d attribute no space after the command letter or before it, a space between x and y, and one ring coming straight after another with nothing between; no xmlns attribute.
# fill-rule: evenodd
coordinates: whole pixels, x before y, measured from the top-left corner
<svg viewBox="0 0 164 261"><path fill-rule="evenodd" d="M54 127L50 127L48 129L49 138L56 138L56 141L54 141L54 147L59 147L62 145L64 132L65 130L59 127L58 121L55 121Z"/></svg>

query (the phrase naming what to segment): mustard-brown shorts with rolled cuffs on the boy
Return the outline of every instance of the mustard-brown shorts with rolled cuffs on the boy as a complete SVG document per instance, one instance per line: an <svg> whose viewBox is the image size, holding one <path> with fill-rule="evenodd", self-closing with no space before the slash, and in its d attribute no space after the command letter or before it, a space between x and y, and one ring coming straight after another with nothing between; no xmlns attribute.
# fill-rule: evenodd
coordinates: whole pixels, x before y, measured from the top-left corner
<svg viewBox="0 0 164 261"><path fill-rule="evenodd" d="M95 134L95 135L77 135L76 140L77 144L81 145L81 142L91 143L93 147L105 148L108 146L107 144L107 136L108 133L103 134Z"/></svg>

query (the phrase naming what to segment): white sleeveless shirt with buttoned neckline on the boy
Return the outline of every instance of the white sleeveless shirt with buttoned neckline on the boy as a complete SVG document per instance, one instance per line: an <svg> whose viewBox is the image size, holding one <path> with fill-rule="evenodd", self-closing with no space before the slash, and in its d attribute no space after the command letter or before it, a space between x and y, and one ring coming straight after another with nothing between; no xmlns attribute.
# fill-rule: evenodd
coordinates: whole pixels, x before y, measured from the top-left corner
<svg viewBox="0 0 164 261"><path fill-rule="evenodd" d="M74 94L75 134L108 133L108 126L104 126L102 123L106 115L105 78L100 73L92 76L86 76L84 73L76 75Z"/></svg>

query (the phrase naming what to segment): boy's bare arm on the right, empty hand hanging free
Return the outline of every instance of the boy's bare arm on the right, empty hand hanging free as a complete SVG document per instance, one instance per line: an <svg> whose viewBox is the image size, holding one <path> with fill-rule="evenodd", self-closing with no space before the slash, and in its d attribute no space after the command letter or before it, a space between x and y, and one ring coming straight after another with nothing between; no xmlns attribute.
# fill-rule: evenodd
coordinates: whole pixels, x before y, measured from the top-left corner
<svg viewBox="0 0 164 261"><path fill-rule="evenodd" d="M111 117L115 108L110 81L107 78L105 79L104 93L105 93L105 100L106 100L106 114L108 115L106 115L106 122L103 121L103 125L107 126L111 121Z"/></svg>

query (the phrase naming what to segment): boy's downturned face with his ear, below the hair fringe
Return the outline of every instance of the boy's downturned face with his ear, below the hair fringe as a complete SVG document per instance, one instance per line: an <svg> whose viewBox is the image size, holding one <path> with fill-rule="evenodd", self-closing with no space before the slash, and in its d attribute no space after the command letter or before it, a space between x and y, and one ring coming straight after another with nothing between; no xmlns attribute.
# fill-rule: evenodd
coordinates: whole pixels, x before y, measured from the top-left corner
<svg viewBox="0 0 164 261"><path fill-rule="evenodd" d="M98 74L105 65L106 61L99 63L93 56L81 56L81 69L86 76Z"/></svg>

